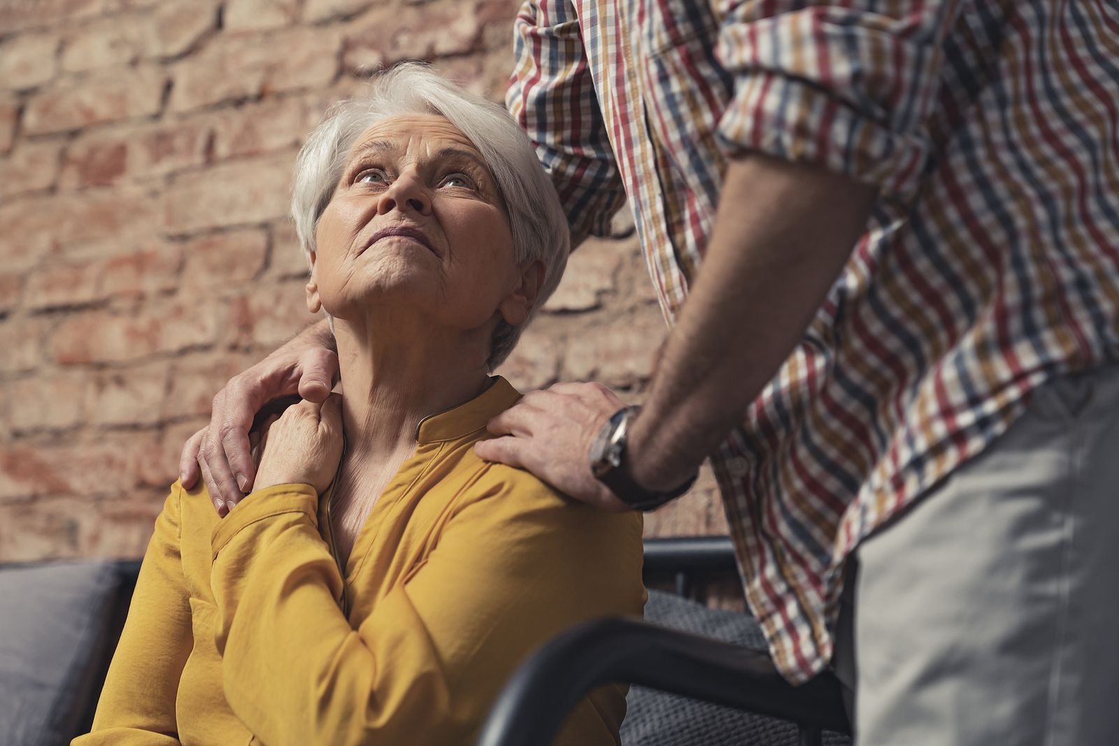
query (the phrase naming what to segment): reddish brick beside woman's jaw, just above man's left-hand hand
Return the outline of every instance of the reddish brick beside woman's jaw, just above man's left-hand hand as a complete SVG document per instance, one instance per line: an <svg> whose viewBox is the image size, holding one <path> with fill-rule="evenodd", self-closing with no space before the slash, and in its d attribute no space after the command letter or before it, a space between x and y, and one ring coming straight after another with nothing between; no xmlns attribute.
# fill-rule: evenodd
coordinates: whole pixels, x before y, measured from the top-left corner
<svg viewBox="0 0 1119 746"><path fill-rule="evenodd" d="M302 282L256 287L229 301L227 341L275 347L321 318L307 310Z"/></svg>

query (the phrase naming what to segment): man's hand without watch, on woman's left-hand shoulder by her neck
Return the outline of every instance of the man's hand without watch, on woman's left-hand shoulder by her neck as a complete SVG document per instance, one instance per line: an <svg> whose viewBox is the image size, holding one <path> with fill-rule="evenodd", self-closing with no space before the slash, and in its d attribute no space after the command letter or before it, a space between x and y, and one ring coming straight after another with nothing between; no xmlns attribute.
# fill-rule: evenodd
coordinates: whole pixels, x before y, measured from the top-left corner
<svg viewBox="0 0 1119 746"><path fill-rule="evenodd" d="M209 425L187 440L179 461L182 487L194 487L200 474L218 514L253 489L256 466L248 431L257 410L297 393L316 404L330 394L338 356L326 347L328 334L321 322L232 378L214 397Z"/></svg>

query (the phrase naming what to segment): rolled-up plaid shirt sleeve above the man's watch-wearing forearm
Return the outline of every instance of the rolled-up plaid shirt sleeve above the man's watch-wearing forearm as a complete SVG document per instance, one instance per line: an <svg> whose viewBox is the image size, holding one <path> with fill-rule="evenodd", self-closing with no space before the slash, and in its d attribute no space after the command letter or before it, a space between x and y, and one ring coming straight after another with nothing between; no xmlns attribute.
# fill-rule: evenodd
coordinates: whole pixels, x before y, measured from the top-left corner
<svg viewBox="0 0 1119 746"><path fill-rule="evenodd" d="M943 40L958 1L725 0L717 56L734 76L718 125L731 157L814 163L912 197L930 154Z"/></svg>

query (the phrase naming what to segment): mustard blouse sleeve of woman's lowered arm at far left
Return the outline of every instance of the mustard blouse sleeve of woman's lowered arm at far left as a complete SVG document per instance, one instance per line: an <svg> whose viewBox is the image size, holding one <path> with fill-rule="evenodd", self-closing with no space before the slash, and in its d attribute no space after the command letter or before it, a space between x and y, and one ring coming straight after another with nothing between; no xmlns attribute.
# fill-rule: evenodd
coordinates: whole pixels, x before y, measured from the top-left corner
<svg viewBox="0 0 1119 746"><path fill-rule="evenodd" d="M93 730L74 739L73 746L179 743L175 700L194 644L179 555L180 500L176 484L156 519Z"/></svg>

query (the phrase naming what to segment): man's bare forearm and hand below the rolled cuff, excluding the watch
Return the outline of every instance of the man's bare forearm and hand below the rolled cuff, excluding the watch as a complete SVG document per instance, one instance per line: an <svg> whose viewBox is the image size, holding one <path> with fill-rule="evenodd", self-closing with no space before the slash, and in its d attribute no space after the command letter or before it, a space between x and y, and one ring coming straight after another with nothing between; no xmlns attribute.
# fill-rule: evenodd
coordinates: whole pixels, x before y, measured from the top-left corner
<svg viewBox="0 0 1119 746"><path fill-rule="evenodd" d="M865 229L875 188L764 155L726 171L699 276L632 425L628 460L649 490L668 491L742 422L746 406L803 336ZM587 454L621 406L594 384L527 395L490 423L483 459L523 466L574 498L624 506Z"/></svg>

